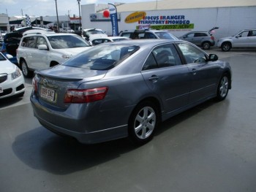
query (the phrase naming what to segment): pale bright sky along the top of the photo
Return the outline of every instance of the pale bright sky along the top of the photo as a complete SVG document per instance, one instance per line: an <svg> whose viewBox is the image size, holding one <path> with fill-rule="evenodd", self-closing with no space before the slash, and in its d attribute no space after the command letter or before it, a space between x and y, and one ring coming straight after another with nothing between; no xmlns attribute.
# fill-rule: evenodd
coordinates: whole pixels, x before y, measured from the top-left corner
<svg viewBox="0 0 256 192"><path fill-rule="evenodd" d="M80 4L108 4L114 2L143 2L157 0L80 0ZM0 14L7 13L9 17L30 15L30 16L54 16L56 15L55 0L0 0ZM58 15L79 15L77 0L57 0Z"/></svg>

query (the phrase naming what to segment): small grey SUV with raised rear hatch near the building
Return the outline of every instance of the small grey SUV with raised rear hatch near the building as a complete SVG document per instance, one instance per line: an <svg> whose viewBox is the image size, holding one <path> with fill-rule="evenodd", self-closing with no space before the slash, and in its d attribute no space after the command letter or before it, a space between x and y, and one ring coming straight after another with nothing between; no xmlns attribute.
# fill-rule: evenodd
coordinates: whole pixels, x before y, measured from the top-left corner
<svg viewBox="0 0 256 192"><path fill-rule="evenodd" d="M215 38L213 34L211 34L211 31L217 28L218 27L211 28L209 31L191 31L178 38L203 47L204 50L209 50L211 46L215 45Z"/></svg>

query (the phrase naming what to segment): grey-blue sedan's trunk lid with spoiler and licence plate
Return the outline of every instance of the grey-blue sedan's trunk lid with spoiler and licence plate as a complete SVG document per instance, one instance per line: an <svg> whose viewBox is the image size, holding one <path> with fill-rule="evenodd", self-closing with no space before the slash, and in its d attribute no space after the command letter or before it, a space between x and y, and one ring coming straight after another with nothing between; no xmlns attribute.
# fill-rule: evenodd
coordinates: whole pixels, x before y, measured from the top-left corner
<svg viewBox="0 0 256 192"><path fill-rule="evenodd" d="M68 90L78 89L84 82L100 80L105 73L106 71L59 65L36 72L34 89L42 103L52 106L54 110L66 110L69 103L65 103L64 98Z"/></svg>

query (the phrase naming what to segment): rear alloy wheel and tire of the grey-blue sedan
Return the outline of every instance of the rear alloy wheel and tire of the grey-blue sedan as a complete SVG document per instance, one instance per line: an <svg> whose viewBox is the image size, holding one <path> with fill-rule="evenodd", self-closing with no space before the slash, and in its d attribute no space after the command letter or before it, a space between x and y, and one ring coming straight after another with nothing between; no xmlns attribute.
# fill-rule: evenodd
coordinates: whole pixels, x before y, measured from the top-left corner
<svg viewBox="0 0 256 192"><path fill-rule="evenodd" d="M151 101L138 104L129 118L129 138L136 145L143 145L154 137L159 123L159 110Z"/></svg>

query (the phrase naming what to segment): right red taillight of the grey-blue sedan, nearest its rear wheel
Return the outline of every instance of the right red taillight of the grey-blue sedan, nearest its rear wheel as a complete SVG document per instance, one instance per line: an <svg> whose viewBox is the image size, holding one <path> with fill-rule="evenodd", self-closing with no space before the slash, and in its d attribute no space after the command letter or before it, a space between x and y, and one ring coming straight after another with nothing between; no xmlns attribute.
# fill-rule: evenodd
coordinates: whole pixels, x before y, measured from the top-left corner
<svg viewBox="0 0 256 192"><path fill-rule="evenodd" d="M89 103L104 99L108 87L91 89L69 89L65 95L65 103Z"/></svg>

